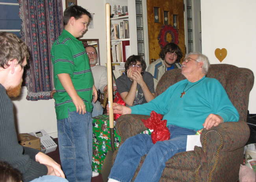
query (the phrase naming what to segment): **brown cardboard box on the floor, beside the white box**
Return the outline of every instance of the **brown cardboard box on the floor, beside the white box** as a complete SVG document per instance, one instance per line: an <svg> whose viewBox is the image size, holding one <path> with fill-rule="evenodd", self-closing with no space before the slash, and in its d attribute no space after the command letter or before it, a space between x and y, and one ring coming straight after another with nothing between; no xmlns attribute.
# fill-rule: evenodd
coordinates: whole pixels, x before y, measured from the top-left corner
<svg viewBox="0 0 256 182"><path fill-rule="evenodd" d="M25 147L30 147L41 151L40 138L37 138L28 133L20 133L18 135L19 144Z"/></svg>

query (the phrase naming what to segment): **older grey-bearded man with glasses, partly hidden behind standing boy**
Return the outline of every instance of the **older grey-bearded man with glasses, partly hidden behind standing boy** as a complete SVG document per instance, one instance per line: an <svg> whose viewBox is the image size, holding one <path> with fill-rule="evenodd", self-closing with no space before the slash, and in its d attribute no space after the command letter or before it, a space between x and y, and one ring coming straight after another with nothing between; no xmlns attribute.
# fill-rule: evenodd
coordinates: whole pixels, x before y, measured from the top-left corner
<svg viewBox="0 0 256 182"><path fill-rule="evenodd" d="M93 73L94 86L97 91L100 90L101 93L104 93L108 87L107 81L107 68L105 66L96 65L98 63L98 53L92 45L85 47L86 53L89 57L89 62L91 66L91 72ZM91 113L92 117L102 115L103 108L99 101L96 101L93 104L93 112Z"/></svg>

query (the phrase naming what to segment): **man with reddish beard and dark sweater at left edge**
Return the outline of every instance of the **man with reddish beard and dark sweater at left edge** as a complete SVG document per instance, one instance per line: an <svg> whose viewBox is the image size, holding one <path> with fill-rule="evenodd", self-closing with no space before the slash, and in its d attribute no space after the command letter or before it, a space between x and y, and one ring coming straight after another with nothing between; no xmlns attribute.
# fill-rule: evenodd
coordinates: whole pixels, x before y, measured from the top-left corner
<svg viewBox="0 0 256 182"><path fill-rule="evenodd" d="M28 49L16 35L0 33L0 160L22 173L22 181L67 182L61 167L44 153L18 143L13 104L9 97L20 94Z"/></svg>

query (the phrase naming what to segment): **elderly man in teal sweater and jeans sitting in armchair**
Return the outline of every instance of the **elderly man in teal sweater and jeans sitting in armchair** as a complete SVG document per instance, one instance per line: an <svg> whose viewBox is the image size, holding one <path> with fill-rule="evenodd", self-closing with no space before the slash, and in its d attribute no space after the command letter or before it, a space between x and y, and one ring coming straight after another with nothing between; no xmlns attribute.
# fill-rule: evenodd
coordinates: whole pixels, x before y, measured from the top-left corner
<svg viewBox="0 0 256 182"><path fill-rule="evenodd" d="M167 120L170 139L152 143L151 137L139 134L128 138L119 149L109 182L129 182L141 157L147 154L135 182L158 182L165 162L174 154L186 151L187 135L222 122L237 122L239 114L221 83L207 78L210 63L205 55L189 53L182 63L186 80L170 86L150 102L134 107L113 104L114 113L150 115L160 113ZM125 170L124 170L125 169Z"/></svg>

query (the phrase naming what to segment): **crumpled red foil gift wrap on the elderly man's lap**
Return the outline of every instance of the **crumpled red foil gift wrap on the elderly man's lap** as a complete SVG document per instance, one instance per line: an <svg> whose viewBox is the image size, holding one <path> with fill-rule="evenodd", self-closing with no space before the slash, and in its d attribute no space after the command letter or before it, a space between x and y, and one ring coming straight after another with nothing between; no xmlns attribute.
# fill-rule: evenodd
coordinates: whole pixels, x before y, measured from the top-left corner
<svg viewBox="0 0 256 182"><path fill-rule="evenodd" d="M157 141L170 139L171 133L166 126L167 120L161 120L162 118L162 115L156 113L155 111L151 111L150 118L147 120L141 119L148 129L154 129L154 131L151 133L153 144L155 144Z"/></svg>

